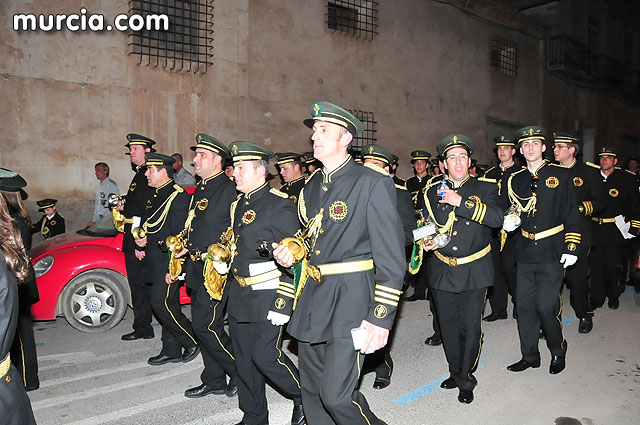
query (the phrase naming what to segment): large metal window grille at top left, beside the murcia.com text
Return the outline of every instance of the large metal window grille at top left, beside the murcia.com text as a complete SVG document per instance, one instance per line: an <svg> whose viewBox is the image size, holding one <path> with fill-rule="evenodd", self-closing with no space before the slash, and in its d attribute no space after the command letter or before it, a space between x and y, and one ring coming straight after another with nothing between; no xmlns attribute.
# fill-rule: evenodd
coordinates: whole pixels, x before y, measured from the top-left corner
<svg viewBox="0 0 640 425"><path fill-rule="evenodd" d="M130 31L129 54L138 64L192 73L213 65L213 0L129 0L129 14L169 18L167 31Z"/></svg>

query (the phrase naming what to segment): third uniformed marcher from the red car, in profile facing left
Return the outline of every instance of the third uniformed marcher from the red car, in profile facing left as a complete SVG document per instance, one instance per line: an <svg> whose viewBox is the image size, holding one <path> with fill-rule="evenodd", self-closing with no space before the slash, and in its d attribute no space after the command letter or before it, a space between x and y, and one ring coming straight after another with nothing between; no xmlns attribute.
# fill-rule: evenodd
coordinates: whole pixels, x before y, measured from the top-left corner
<svg viewBox="0 0 640 425"><path fill-rule="evenodd" d="M222 166L230 157L229 149L207 134L196 136L193 167L201 180L191 196L189 214L185 222L187 249L206 252L227 230L231 219L229 208L236 199L236 186L224 174ZM183 251L185 254L186 251ZM231 340L224 329L224 308L227 295L224 286L208 287L203 275L204 264L200 259L186 256L187 288L191 296L191 320L193 331L202 348L204 371L200 374L202 385L190 388L184 395L189 398L208 394L237 392L236 367ZM227 384L225 374L229 376Z"/></svg>

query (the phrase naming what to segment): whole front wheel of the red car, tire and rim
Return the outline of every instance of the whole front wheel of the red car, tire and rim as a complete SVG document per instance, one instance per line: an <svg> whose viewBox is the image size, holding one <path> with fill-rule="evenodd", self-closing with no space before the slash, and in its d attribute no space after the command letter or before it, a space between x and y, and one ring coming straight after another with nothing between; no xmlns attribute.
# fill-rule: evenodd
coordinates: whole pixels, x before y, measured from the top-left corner
<svg viewBox="0 0 640 425"><path fill-rule="evenodd" d="M116 326L127 312L126 279L106 269L84 272L60 294L62 314L82 332L103 332Z"/></svg>

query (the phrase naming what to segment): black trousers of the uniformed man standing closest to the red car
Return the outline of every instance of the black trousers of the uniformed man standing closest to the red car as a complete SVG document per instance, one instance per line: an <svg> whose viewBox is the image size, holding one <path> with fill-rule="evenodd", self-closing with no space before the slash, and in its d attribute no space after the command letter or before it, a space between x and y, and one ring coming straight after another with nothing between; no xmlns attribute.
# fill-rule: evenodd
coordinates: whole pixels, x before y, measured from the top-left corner
<svg viewBox="0 0 640 425"><path fill-rule="evenodd" d="M151 275L144 261L139 261L133 251L124 252L131 304L133 306L133 330L138 335L153 335L151 327Z"/></svg>

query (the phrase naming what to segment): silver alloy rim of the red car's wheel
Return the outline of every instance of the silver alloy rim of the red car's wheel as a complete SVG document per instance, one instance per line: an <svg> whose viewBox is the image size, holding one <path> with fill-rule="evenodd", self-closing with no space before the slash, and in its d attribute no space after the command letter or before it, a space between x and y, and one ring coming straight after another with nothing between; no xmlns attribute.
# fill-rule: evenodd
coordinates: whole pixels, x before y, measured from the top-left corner
<svg viewBox="0 0 640 425"><path fill-rule="evenodd" d="M92 282L73 294L72 300L76 320L89 326L100 325L115 312L111 289L102 285L96 286Z"/></svg>

